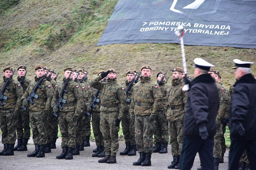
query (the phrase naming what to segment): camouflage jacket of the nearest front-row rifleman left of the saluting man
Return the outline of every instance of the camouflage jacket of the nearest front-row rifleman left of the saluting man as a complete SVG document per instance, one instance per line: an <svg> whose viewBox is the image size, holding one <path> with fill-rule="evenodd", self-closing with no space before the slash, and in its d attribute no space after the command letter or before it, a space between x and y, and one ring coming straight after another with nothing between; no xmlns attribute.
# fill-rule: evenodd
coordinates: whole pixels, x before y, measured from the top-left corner
<svg viewBox="0 0 256 170"><path fill-rule="evenodd" d="M59 83L58 87L54 91L53 94L53 100L52 100L52 105L56 106L56 103L58 102L59 99L59 94L61 93L62 87L64 85L64 82L66 82L67 79L63 78L63 82ZM78 83L74 82L72 79L69 80L69 83L66 87L67 93L63 94L63 99L66 100L66 103L62 103L62 112L75 112L78 114L83 115L83 111L85 110L85 105L83 103L84 101L84 96L82 92L82 88L78 85Z"/></svg>

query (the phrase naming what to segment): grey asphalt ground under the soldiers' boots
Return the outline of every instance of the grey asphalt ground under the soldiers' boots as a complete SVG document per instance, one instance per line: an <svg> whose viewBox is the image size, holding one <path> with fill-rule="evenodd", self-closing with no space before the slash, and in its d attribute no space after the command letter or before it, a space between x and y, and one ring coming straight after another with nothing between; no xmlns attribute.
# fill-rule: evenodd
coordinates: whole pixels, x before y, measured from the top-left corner
<svg viewBox="0 0 256 170"><path fill-rule="evenodd" d="M17 142L16 142L17 143ZM45 154L43 158L27 157L28 153L35 150L32 138L28 142L28 151L14 151L14 156L0 156L0 169L4 170L155 170L155 169L168 169L167 166L171 164L172 154L171 146L168 145L168 153L159 154L153 153L151 156L151 166L133 166L133 162L139 159L139 153L136 156L122 156L119 154L125 148L124 141L119 141L119 151L117 153L117 163L98 163L101 158L92 157L93 149L96 148L95 142L90 140L90 146L84 147L84 151L80 151L80 155L74 155L72 160L58 160L56 156L61 154L62 148L60 147L61 138L56 141L56 149L52 149L51 153ZM16 144L15 144L16 145ZM0 150L3 150L3 144L0 144ZM200 166L199 155L196 155L192 170L196 170ZM220 163L219 170L228 169L228 150L224 156L224 163Z"/></svg>

